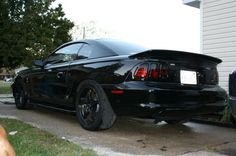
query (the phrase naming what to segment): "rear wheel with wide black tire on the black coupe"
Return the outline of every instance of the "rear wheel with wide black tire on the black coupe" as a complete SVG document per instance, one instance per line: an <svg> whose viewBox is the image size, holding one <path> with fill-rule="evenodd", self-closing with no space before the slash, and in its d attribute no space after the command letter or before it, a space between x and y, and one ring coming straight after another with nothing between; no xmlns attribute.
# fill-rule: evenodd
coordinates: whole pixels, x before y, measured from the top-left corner
<svg viewBox="0 0 236 156"><path fill-rule="evenodd" d="M80 125L90 131L111 128L116 115L102 87L92 80L77 88L76 116Z"/></svg>

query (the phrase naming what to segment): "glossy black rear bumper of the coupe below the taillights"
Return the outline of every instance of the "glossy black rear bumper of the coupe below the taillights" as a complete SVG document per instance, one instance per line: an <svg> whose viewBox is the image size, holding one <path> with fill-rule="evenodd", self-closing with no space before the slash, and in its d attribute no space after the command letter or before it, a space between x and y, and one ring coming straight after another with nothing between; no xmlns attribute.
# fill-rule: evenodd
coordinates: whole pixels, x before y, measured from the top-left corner
<svg viewBox="0 0 236 156"><path fill-rule="evenodd" d="M191 87L126 82L104 86L116 113L146 118L177 119L221 111L226 92L219 86ZM112 94L112 90L123 90Z"/></svg>

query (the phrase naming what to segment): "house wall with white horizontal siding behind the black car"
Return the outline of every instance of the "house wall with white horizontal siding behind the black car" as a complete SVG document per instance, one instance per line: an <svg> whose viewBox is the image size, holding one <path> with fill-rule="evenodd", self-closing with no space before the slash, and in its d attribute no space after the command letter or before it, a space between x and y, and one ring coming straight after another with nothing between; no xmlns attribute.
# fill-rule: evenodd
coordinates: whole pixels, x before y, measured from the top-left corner
<svg viewBox="0 0 236 156"><path fill-rule="evenodd" d="M228 90L228 76L236 68L236 0L183 0L200 8L201 53L223 60L220 85Z"/></svg>

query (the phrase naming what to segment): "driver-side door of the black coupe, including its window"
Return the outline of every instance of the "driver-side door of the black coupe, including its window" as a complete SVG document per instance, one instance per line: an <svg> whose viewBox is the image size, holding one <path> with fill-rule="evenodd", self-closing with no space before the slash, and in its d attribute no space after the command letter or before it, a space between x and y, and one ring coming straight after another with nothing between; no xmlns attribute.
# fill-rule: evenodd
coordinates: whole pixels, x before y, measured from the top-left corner
<svg viewBox="0 0 236 156"><path fill-rule="evenodd" d="M39 75L37 84L38 101L46 105L66 108L68 98L68 68L71 61L76 59L81 44L66 45L46 60Z"/></svg>

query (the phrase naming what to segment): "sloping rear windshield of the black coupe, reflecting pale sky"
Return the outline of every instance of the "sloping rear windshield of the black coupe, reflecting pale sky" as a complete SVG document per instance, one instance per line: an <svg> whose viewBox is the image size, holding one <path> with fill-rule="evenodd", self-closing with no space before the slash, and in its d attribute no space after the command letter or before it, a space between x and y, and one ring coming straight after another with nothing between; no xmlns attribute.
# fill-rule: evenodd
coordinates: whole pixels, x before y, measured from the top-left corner
<svg viewBox="0 0 236 156"><path fill-rule="evenodd" d="M132 55L149 50L138 44L119 41L119 40L99 40L100 43L113 50L118 55Z"/></svg>

